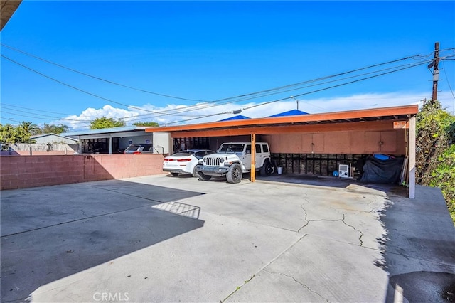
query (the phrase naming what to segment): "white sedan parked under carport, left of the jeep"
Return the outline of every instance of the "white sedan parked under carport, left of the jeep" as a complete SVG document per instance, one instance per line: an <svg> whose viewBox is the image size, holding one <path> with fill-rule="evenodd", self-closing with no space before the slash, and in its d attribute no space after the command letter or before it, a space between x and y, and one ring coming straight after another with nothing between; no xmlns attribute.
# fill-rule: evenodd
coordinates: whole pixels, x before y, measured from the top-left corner
<svg viewBox="0 0 455 303"><path fill-rule="evenodd" d="M208 154L213 154L215 151L208 149L187 149L185 151L178 151L172 156L166 156L163 162L163 171L169 171L172 176L179 174L192 174L198 176L196 166L198 161L203 159Z"/></svg>

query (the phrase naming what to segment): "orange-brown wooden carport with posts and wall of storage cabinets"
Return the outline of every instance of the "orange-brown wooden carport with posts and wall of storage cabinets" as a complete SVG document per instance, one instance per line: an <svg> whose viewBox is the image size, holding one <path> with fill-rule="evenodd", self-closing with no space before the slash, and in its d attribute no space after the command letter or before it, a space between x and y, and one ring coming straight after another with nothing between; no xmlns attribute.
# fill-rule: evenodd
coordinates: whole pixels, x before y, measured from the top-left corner
<svg viewBox="0 0 455 303"><path fill-rule="evenodd" d="M383 152L409 159L409 196L415 193L415 115L418 105L382 107L288 117L266 117L208 122L173 127L151 127L146 132L168 132L178 137L249 135L252 144L262 135L272 152L359 153ZM281 142L280 142L281 141ZM286 144L283 144L285 142ZM254 150L254 149L252 149ZM252 159L255 159L252 154ZM255 181L252 161L251 181Z"/></svg>

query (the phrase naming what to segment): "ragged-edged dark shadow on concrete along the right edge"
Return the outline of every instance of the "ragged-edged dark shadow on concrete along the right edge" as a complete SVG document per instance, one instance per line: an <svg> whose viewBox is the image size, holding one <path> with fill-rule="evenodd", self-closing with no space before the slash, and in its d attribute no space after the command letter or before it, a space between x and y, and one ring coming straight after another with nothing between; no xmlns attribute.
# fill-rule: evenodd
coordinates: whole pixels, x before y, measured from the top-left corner
<svg viewBox="0 0 455 303"><path fill-rule="evenodd" d="M380 216L386 302L455 302L455 228L439 188L422 188L415 199L390 197Z"/></svg>

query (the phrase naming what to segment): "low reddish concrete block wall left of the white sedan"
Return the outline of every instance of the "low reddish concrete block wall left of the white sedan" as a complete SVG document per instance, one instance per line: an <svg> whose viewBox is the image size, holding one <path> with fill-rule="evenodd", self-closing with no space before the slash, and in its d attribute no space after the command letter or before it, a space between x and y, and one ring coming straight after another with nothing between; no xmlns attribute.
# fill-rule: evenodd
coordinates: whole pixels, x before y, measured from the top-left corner
<svg viewBox="0 0 455 303"><path fill-rule="evenodd" d="M161 154L1 156L1 190L164 174Z"/></svg>

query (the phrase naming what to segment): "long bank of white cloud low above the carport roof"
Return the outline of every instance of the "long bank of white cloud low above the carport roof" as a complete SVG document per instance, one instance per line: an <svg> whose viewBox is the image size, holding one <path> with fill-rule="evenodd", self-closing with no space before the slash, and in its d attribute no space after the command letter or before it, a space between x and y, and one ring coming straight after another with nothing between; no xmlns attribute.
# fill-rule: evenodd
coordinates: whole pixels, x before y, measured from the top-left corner
<svg viewBox="0 0 455 303"><path fill-rule="evenodd" d="M393 92L387 94L370 93L318 99L296 97L296 99L299 100L299 110L314 114L318 112L337 112L344 110L360 110L366 108L393 107L412 104L419 104L419 106L422 106L422 100L424 100L424 98L429 99L430 97L431 96L427 95L425 92ZM449 112L454 110L455 103L451 94L441 94L439 95L439 100L441 101L443 107L447 108ZM134 122L139 121L152 121L157 122L160 125L195 124L213 122L232 117L234 116L232 112L240 109L242 109L240 115L251 118L259 118L268 117L279 112L294 110L297 107L296 101L291 98L289 98L289 100L270 102L264 105L260 104L261 103L250 102L242 105L229 103L213 106L213 103L199 103L197 105L191 105L191 107L186 105L169 104L165 107L143 105L141 107L129 107L128 109L105 105L99 109L89 107L80 115L72 115L54 123L67 124L71 130L88 129L90 121L96 117L124 119L124 121L127 122L127 125L132 125ZM218 115L225 112L231 113Z"/></svg>

